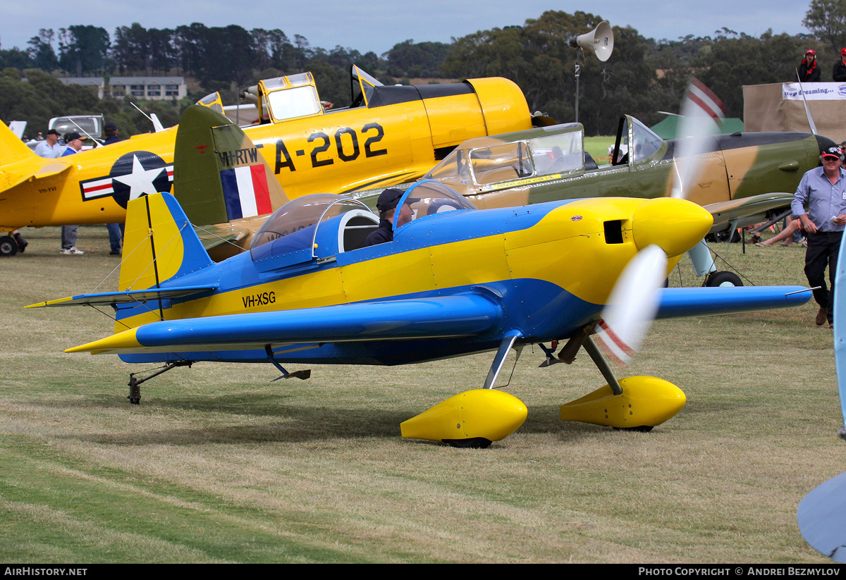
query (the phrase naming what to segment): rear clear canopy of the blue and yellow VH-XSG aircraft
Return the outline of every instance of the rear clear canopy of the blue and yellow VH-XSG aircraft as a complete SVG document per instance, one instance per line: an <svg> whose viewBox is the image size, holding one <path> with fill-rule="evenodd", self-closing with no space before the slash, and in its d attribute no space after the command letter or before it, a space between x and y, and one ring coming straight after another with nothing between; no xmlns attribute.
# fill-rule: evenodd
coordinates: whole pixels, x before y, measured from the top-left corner
<svg viewBox="0 0 846 580"><path fill-rule="evenodd" d="M360 201L337 194L304 195L280 207L253 237L250 256L254 261L280 254L296 254L297 261L310 260L317 224L350 210L371 211ZM376 216L374 221L377 222Z"/></svg>

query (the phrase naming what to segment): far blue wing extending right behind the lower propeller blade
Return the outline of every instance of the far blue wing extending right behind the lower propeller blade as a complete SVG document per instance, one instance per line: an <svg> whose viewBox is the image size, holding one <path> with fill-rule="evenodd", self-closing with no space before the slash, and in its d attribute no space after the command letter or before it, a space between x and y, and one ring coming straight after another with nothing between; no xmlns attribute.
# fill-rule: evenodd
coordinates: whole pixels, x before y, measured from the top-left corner
<svg viewBox="0 0 846 580"><path fill-rule="evenodd" d="M810 300L803 286L733 286L662 288L656 318L730 315L755 310L790 308Z"/></svg>

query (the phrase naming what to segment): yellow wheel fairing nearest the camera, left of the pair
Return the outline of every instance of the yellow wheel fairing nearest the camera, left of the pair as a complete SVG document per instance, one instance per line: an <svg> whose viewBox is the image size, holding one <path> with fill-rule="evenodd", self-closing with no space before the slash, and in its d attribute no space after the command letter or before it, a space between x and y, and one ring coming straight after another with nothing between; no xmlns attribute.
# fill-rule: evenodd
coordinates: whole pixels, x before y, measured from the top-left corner
<svg viewBox="0 0 846 580"><path fill-rule="evenodd" d="M399 425L403 437L431 441L498 441L519 429L526 406L514 395L492 389L464 391Z"/></svg>

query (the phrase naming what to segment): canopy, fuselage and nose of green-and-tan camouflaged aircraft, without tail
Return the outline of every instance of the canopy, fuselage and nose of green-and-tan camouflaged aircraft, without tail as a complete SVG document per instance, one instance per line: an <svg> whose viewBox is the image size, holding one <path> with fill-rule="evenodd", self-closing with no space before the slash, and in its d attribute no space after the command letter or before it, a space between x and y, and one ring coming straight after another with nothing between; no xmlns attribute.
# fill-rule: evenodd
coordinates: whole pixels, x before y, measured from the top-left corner
<svg viewBox="0 0 846 580"><path fill-rule="evenodd" d="M698 178L682 193L711 212L712 233L759 223L767 211L787 208L799 179L819 165L820 151L836 145L806 133L734 133L704 139L705 151L696 160ZM670 194L673 174L679 171L674 152L680 140L662 140L624 115L610 163L597 166L585 153L584 142L580 123L479 137L464 141L424 178L448 183L480 209ZM380 192L352 196L375 207ZM709 274L707 285L742 285L733 273L717 272L705 243L691 250L690 258L698 276Z"/></svg>

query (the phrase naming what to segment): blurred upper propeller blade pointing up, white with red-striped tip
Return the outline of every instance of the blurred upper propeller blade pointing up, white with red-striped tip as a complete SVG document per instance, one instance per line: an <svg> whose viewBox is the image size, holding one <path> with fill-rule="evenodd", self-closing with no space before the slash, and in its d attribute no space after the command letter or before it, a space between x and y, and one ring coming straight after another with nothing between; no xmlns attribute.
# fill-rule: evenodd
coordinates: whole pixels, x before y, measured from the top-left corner
<svg viewBox="0 0 846 580"><path fill-rule="evenodd" d="M725 118L726 106L700 80L691 78L684 96L676 142L677 179L671 196L684 199L702 168L701 156L706 152L706 137Z"/></svg>

